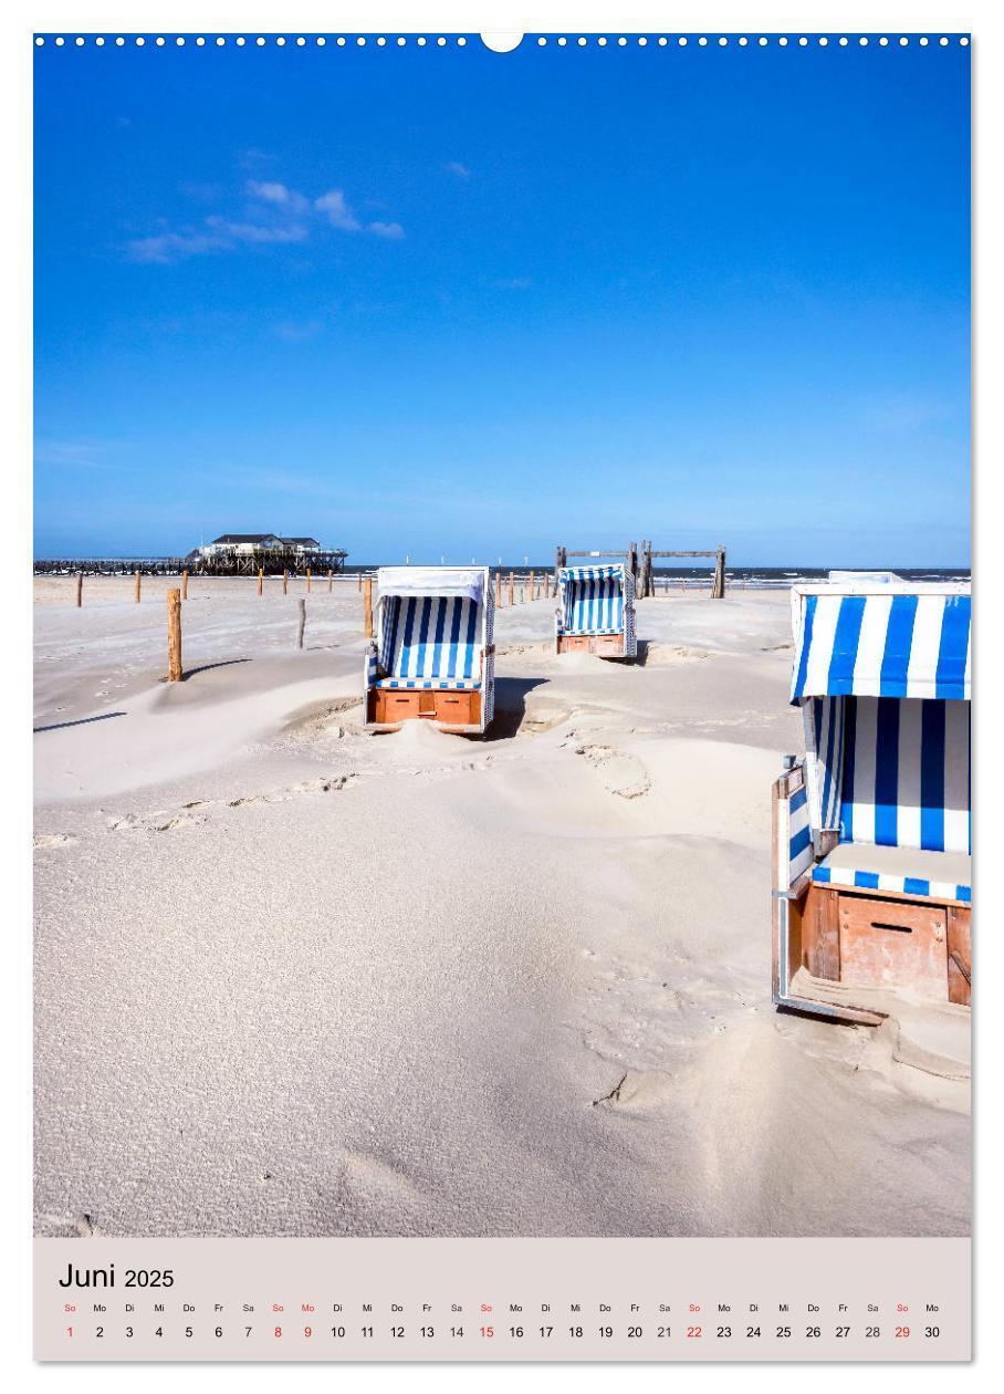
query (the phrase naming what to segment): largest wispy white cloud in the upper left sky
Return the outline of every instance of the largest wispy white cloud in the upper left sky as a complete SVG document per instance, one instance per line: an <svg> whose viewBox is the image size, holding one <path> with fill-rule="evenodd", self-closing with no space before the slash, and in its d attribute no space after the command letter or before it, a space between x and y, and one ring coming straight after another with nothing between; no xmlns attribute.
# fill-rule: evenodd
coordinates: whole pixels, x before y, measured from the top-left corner
<svg viewBox="0 0 1004 1394"><path fill-rule="evenodd" d="M185 227L163 227L127 243L127 255L136 262L168 265L189 256L234 251L241 245L302 243L311 236L317 215L329 227L343 233L369 233L390 241L404 237L400 223L362 222L340 188L311 201L279 180L251 178L244 192L246 206L241 216L213 213Z"/></svg>

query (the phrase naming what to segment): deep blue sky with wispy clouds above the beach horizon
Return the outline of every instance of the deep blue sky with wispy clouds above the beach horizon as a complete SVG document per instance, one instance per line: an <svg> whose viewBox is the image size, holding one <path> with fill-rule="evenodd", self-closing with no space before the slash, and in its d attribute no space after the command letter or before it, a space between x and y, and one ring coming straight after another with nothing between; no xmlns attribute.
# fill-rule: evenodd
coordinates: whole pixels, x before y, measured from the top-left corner
<svg viewBox="0 0 1004 1394"><path fill-rule="evenodd" d="M968 49L35 57L38 555L968 565Z"/></svg>

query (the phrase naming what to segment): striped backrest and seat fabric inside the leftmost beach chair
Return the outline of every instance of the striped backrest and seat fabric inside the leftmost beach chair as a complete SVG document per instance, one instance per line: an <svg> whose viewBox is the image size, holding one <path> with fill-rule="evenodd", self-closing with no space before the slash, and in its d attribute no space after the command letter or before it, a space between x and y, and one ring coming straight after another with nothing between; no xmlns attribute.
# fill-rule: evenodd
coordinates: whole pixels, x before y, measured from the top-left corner
<svg viewBox="0 0 1004 1394"><path fill-rule="evenodd" d="M466 595L394 595L387 599L377 687L468 691L482 684L482 616Z"/></svg>

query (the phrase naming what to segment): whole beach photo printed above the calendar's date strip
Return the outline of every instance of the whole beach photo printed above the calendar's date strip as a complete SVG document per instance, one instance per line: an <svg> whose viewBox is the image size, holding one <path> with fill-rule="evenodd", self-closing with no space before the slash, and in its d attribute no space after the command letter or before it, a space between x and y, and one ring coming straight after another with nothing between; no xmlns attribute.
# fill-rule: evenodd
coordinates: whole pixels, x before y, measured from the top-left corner
<svg viewBox="0 0 1004 1394"><path fill-rule="evenodd" d="M971 1230L969 50L35 52L35 1234Z"/></svg>

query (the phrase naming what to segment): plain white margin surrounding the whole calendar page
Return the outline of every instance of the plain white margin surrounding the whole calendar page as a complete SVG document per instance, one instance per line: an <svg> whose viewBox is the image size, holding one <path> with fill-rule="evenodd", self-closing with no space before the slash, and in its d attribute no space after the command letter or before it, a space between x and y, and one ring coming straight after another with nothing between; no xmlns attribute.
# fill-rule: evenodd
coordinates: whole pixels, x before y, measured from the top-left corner
<svg viewBox="0 0 1004 1394"><path fill-rule="evenodd" d="M1000 164L1000 148L990 144L990 131L1004 130L1004 63L1001 61L1001 45L1004 43L1004 25L998 18L1000 7L989 3L971 3L965 14L959 14L955 6L933 4L932 0L916 0L913 4L893 3L876 6L834 6L834 4L716 4L700 6L693 0L689 3L653 4L650 0L632 0L628 6L602 6L592 0L581 0L578 4L499 4L483 3L476 6L458 3L418 4L398 0L397 4L355 4L337 7L322 4L284 4L281 7L281 22L288 31L299 28L305 32L331 32L333 28L344 28L348 32L373 32L377 29L400 29L401 32L418 32L419 29L440 29L441 32L462 31L466 33L479 32L507 32L507 31L535 31L561 32L581 31L597 32L609 29L613 18L615 26L624 32L654 32L659 28L671 28L675 32L693 32L700 28L713 32L744 32L751 25L766 32L803 31L834 32L849 29L852 32L887 32L920 33L926 29L947 29L958 32L969 29L973 32L973 91L976 113L979 120L980 139L976 142L976 169L979 199L975 206L976 245L989 250L1004 241L1004 227L1001 220L1000 180L994 176L994 163ZM31 68L28 54L28 36L32 29L47 32L67 28L97 31L123 28L123 32L150 31L159 26L168 29L185 29L188 32L203 28L214 32L234 32L240 28L260 28L269 32L276 28L276 6L267 6L253 0L253 3L213 3L195 4L192 0L175 0L173 4L89 4L61 3L28 6L15 0L7 7L3 20L4 42L0 45L0 100L3 100L3 139L10 144L4 170L13 181L6 202L6 219L0 226L0 236L4 241L6 256L0 262L7 280L4 290L4 336L7 339L7 353L4 354L4 372L0 378L0 389L4 393L6 411L4 422L4 516L15 523L15 535L21 538L19 548L15 546L18 560L17 577L4 577L7 588L13 588L7 595L7 636L6 636L6 675L0 687L0 717L3 729L7 733L26 732L26 717L29 714L28 693L31 691L31 533L24 527L31 517L31 489L28 461L31 459L31 429L25 414L25 401L31 392L31 365L28 347L29 326L29 284L24 273L29 265L31 231L31 152L28 148L28 120L29 120L29 89ZM22 216L17 216L21 210ZM975 432L978 445L978 460L982 467L976 473L976 498L979 500L978 521L975 530L973 555L982 558L985 551L987 558L993 558L991 528L1001 516L1001 499L1004 492L1000 484L1000 461L1004 460L1004 439L1001 432L1000 397L1001 367L1004 365L1004 344L1001 344L1004 326L1004 297L1001 296L1001 279L1004 270L1000 258L989 254L979 262L980 300L979 314L975 319L976 344L979 355L975 362L976 401L982 404L979 429ZM979 390L982 388L982 392ZM987 572L990 562L987 562ZM990 641L989 625L983 623L983 606L978 604L978 643L979 643L979 675L978 683L985 691L991 691L996 679L1001 676L1001 658L994 652ZM991 846L998 834L1004 834L1004 822L1000 814L994 814L989 806L980 807L982 789L1001 788L1000 749L993 749L990 742L991 730L989 721L980 719L980 704L976 708L976 739L979 754L980 779L976 790L978 797L978 868L980 864L980 846ZM19 1376L21 1381L45 1380L47 1384L56 1379L72 1380L74 1387L89 1391L109 1388L132 1387L139 1372L132 1366L35 1366L31 1363L31 1284L28 1271L31 1263L31 1094L28 1087L29 1069L29 776L31 776L31 747L26 737L15 736L13 749L6 761L8 796L4 807L0 809L3 818L3 834L0 846L8 853L6 859L7 871L7 906L6 938L7 938L7 973L4 974L6 1002L3 1012L4 1039L4 1082L7 1085L8 1110L13 1112L14 1125L4 1129L6 1146L0 1154L0 1178L7 1197L8 1220L7 1236L17 1235L17 1243L6 1250L6 1262L0 1266L3 1287L4 1363ZM11 792L13 786L13 792ZM979 874L979 871L978 871ZM982 923L987 926L987 934L980 935L980 981L989 983L1000 979L1000 935L990 930L1001 920L994 885L989 881L980 889ZM996 962L997 960L997 962ZM990 1032L994 1027L991 1018L1000 1012L987 1012L986 1016L976 1008L976 1059L991 1068L996 1057L994 1046L1000 1046L1000 1037L991 1040ZM990 1018L990 1019L989 1019ZM13 1065L13 1068L11 1068ZM979 1126L976 1131L978 1182L983 1178L986 1184L978 1190L978 1289L976 1310L982 1312L982 1320L976 1326L976 1366L969 1370L955 1366L951 1372L939 1366L883 1366L880 1379L888 1387L904 1387L916 1394L930 1381L937 1380L939 1387L947 1377L955 1374L972 1374L978 1379L986 1377L994 1366L998 1368L1001 1351L1001 1328L1004 1323L1000 1315L990 1305L991 1282L997 1277L1000 1288L1000 1269L991 1270L990 1256L994 1249L1001 1250L1004 1245L1004 1228L1001 1216L1004 1213L1004 1199L1000 1188L993 1185L1000 1167L1000 1143L1004 1129L1000 1124L1000 1110L994 1107L990 1089L980 1087L978 1073L976 1089L976 1117ZM996 1093L996 1090L993 1090ZM13 1096L13 1097L11 1097ZM994 1165L997 1160L997 1165ZM227 1242L227 1241L220 1241ZM421 1242L421 1241L415 1241ZM599 1241L602 1242L602 1241ZM980 1257L986 1262L980 1263ZM291 1372L290 1366L283 1366L283 1372ZM558 1384L568 1384L579 1390L603 1387L607 1390L611 1377L620 1379L628 1374L636 1387L663 1388L667 1379L687 1379L698 1381L700 1388L717 1387L720 1381L730 1380L732 1386L742 1380L744 1391L758 1391L760 1388L777 1388L788 1381L803 1386L812 1381L816 1388L841 1387L849 1380L861 1379L863 1372L845 1370L841 1366L810 1366L803 1365L766 1365L748 1366L732 1370L724 1366L680 1366L667 1369L664 1365L653 1366L617 1366L617 1376L604 1366L480 1366L478 1369L478 1384L485 1387L499 1387L500 1381L518 1380L521 1390L532 1390L538 1381L543 1386L547 1380L550 1388ZM174 1366L145 1366L142 1369L142 1383L149 1388L174 1388L180 1372ZM297 1366L291 1372L298 1380L324 1380L330 1387L331 1379L338 1381L340 1388L376 1388L384 1383L394 1381L395 1386L408 1381L408 1387L416 1391L440 1388L466 1388L471 1381L468 1366L407 1366L389 1369L387 1366L340 1366L331 1370L330 1366ZM868 1377L868 1376L866 1376ZM198 1366L184 1370L185 1386L194 1390L221 1386L246 1388L274 1387L276 1373L263 1366ZM212 1381L212 1386L210 1386Z"/></svg>

